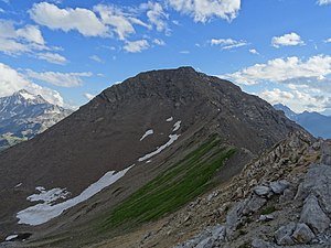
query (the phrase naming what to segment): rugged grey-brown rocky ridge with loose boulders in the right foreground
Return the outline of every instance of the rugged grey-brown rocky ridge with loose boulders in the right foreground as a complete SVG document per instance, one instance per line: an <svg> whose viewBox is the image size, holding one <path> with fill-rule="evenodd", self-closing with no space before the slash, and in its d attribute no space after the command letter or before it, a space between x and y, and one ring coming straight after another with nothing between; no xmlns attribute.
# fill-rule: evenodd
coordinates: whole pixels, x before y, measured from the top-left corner
<svg viewBox="0 0 331 248"><path fill-rule="evenodd" d="M175 248L330 247L330 141L292 133L227 187L201 200L195 208L217 205L220 224Z"/></svg>

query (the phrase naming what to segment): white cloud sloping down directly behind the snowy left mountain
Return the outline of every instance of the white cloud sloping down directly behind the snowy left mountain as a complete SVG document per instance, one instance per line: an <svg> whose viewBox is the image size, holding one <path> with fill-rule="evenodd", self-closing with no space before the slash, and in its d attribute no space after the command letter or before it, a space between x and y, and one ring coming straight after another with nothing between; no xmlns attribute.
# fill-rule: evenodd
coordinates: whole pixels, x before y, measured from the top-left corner
<svg viewBox="0 0 331 248"><path fill-rule="evenodd" d="M46 87L41 87L18 73L10 66L0 63L0 97L10 96L20 89L26 89L32 94L41 95L51 104L64 106L64 100L61 95Z"/></svg>

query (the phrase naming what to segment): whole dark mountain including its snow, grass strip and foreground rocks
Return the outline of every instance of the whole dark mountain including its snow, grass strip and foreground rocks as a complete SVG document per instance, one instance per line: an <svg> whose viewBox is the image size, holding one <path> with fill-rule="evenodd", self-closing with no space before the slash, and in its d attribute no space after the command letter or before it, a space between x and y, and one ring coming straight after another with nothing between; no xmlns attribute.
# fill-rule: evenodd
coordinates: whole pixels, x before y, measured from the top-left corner
<svg viewBox="0 0 331 248"><path fill-rule="evenodd" d="M328 149L231 82L140 73L0 153L0 247L327 244Z"/></svg>

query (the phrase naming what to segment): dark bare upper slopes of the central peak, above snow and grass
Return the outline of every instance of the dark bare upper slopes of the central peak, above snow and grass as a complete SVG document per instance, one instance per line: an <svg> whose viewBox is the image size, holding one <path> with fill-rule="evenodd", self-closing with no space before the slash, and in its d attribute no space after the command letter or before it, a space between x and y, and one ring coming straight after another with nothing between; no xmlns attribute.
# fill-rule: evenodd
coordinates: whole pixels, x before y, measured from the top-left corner
<svg viewBox="0 0 331 248"><path fill-rule="evenodd" d="M170 117L173 122L166 121ZM107 171L139 164L138 158L169 140L175 121L182 121L180 138L158 158L180 149L183 152L189 142L212 133L258 154L288 132L301 130L258 97L191 67L141 73L104 90L36 138L0 154L0 198L7 198L0 203L0 223L9 222L9 216L12 223L14 214L29 206L25 198L35 186L66 187L75 196ZM148 129L154 134L139 141ZM129 182L124 177L122 184L137 188L154 175L153 162L142 165L130 172Z"/></svg>

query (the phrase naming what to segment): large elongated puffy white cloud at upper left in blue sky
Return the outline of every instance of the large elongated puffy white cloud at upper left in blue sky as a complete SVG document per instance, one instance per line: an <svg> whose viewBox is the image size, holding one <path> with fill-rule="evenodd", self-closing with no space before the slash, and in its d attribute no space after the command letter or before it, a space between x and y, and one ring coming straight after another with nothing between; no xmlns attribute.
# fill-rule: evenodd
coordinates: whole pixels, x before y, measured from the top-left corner
<svg viewBox="0 0 331 248"><path fill-rule="evenodd" d="M108 28L93 11L87 9L60 9L55 4L40 2L34 3L29 13L33 21L52 30L65 32L76 30L84 36L106 36L108 34Z"/></svg>

